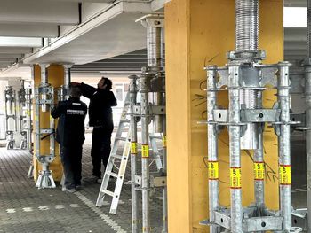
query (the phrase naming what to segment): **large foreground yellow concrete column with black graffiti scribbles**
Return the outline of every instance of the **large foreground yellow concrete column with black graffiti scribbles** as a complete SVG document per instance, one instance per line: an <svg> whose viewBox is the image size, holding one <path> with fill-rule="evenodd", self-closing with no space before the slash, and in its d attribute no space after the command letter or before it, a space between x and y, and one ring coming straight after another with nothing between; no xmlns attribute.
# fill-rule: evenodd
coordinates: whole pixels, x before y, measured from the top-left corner
<svg viewBox="0 0 311 233"><path fill-rule="evenodd" d="M283 0L259 1L259 49L265 63L283 60ZM270 16L274 17L271 18ZM199 221L208 218L205 65L224 66L226 52L235 50L234 0L172 0L165 5L166 94L168 136L169 232L207 232ZM275 91L264 94L265 107ZM227 93L218 95L227 108ZM278 207L277 137L264 134L267 163L266 202ZM242 153L243 206L254 201L252 153ZM220 205L229 206L227 129L219 135ZM268 190L268 191L267 191Z"/></svg>

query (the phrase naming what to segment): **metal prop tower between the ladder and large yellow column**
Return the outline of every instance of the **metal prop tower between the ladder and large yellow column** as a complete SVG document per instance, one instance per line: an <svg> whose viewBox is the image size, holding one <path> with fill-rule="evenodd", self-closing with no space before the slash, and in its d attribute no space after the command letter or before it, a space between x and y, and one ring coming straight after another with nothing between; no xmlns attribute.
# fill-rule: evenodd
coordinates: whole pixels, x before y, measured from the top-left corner
<svg viewBox="0 0 311 233"><path fill-rule="evenodd" d="M142 232L150 232L150 190L163 188L163 232L167 232L166 192L166 128L165 128L165 76L163 69L163 15L149 14L136 21L147 28L148 66L142 68L140 77L131 75L131 175L132 175L132 232L140 232L138 190L142 192ZM137 96L140 95L140 105ZM153 104L150 104L152 102ZM138 130L141 125L141 174L137 169ZM163 138L162 162L157 174L150 173L149 144L153 144L149 124L154 123L156 133ZM157 150L156 150L157 151ZM155 153L155 151L154 151ZM155 154L154 154L155 156ZM156 157L155 157L156 158ZM158 159L156 159L158 160Z"/></svg>

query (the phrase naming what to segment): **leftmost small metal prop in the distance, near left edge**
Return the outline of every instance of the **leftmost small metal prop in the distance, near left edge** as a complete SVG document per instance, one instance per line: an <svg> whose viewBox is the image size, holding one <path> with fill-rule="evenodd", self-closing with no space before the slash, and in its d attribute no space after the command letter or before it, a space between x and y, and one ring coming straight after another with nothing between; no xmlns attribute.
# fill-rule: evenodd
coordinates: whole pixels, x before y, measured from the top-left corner
<svg viewBox="0 0 311 233"><path fill-rule="evenodd" d="M14 134L17 131L16 97L12 86L5 87L4 98L6 149L12 150L15 148Z"/></svg>

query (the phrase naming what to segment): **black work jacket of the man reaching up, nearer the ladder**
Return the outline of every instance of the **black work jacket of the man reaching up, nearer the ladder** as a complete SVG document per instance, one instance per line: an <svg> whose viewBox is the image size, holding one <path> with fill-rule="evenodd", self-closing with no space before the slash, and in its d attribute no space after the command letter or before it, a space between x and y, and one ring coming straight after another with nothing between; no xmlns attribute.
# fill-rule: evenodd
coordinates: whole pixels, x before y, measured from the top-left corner
<svg viewBox="0 0 311 233"><path fill-rule="evenodd" d="M114 93L106 89L95 89L90 85L81 83L80 89L84 97L90 99L89 105L89 125L92 127L114 128L112 118L112 106L116 106Z"/></svg>

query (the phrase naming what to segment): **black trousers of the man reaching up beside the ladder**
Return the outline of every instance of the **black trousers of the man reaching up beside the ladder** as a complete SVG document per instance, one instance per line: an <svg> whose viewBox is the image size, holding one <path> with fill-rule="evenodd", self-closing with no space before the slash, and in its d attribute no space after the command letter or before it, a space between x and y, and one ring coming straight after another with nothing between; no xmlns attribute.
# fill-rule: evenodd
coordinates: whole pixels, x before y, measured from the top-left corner
<svg viewBox="0 0 311 233"><path fill-rule="evenodd" d="M93 128L92 132L92 175L101 178L101 162L107 167L111 150L111 134L113 128Z"/></svg>

